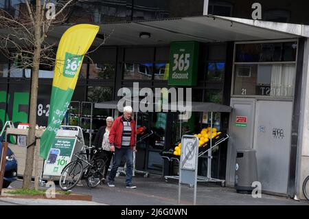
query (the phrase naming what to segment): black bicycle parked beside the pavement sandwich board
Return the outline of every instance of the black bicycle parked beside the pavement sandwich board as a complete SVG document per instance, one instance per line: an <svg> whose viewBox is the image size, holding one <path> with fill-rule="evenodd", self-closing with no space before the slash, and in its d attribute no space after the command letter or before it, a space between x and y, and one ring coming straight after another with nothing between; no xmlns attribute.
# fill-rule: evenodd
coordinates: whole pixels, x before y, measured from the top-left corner
<svg viewBox="0 0 309 219"><path fill-rule="evenodd" d="M81 141L80 137L76 137L78 141ZM88 149L89 153L84 152L84 148ZM61 172L59 179L60 189L63 191L72 189L82 179L86 179L88 187L91 188L101 183L105 172L106 159L97 156L100 148L99 150L93 148L95 146L89 147L84 145L80 152L73 155L76 157L76 160L65 165L65 168ZM91 158L89 158L89 155Z"/></svg>

